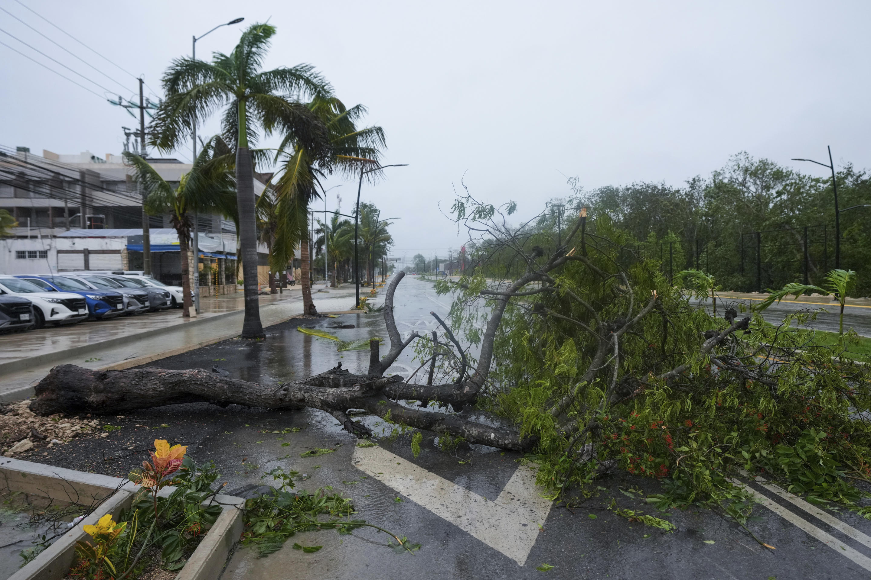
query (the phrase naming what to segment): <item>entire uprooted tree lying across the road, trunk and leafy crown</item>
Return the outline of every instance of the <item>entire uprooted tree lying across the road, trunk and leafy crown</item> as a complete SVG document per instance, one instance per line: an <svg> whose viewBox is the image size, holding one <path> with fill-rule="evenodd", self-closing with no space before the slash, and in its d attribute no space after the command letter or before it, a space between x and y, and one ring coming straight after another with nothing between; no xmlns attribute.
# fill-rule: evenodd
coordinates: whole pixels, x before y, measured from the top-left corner
<svg viewBox="0 0 871 580"><path fill-rule="evenodd" d="M381 357L378 341L370 343L366 374L340 363L300 381L255 384L208 370L64 365L38 383L30 409L311 407L368 437L348 417L363 409L453 441L533 454L539 483L554 497L619 465L662 479L661 505L739 497L727 479L738 468L768 470L793 490L855 504L849 478L871 480L868 366L843 357L846 343L814 346L814 331L799 325L812 313L773 326L725 304L724 317L712 317L606 216L588 228L581 210L563 230L563 216L549 211L512 228L513 210L458 198L457 220L473 239L463 277L436 284L455 297L449 321L436 317L441 336L402 340L393 313L398 272L383 308L389 350ZM418 371L385 377L409 347L425 383L415 382ZM509 425L479 423L447 406L490 410Z"/></svg>

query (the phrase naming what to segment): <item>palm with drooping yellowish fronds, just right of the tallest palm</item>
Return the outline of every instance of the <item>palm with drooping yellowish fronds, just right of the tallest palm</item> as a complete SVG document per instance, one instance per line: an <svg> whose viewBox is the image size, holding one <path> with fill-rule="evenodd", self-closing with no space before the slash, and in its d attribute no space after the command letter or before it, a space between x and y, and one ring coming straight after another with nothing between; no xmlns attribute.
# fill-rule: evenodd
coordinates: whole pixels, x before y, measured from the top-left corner
<svg viewBox="0 0 871 580"><path fill-rule="evenodd" d="M321 197L318 188L322 177L334 172L355 176L361 166L378 163L385 143L381 127L357 129L356 123L366 113L360 104L348 109L338 98L318 96L307 108L326 126L330 154L320 155L291 133L280 144L276 159L283 159L282 173L275 183L279 223L272 259L275 266L287 263L300 244L303 311L317 314L309 282L308 206Z"/></svg>

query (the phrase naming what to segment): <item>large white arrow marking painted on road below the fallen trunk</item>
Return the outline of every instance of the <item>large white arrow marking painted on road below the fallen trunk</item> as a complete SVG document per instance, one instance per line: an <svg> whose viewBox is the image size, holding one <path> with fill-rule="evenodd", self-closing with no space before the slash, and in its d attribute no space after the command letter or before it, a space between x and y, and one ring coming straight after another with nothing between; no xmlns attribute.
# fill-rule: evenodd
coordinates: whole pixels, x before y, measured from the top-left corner
<svg viewBox="0 0 871 580"><path fill-rule="evenodd" d="M490 501L381 447L354 449L354 467L523 566L550 513L536 474L521 465Z"/></svg>

